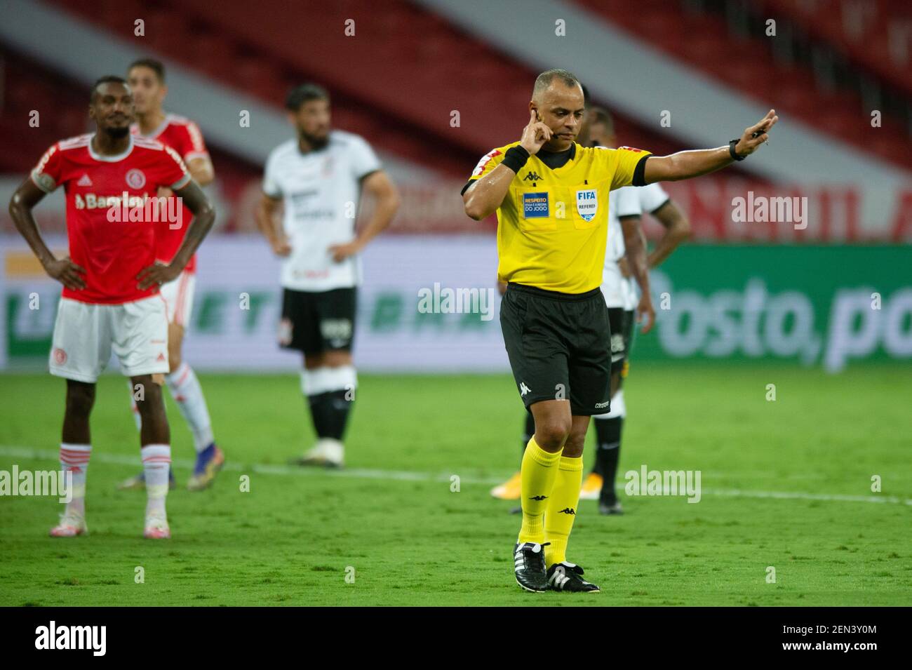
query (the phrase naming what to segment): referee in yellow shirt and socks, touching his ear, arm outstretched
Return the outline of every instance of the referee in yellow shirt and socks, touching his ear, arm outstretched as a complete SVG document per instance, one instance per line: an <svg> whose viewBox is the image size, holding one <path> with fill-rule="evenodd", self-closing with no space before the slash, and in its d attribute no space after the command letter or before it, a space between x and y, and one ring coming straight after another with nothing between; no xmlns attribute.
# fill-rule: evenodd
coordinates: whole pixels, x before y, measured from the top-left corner
<svg viewBox="0 0 912 670"><path fill-rule="evenodd" d="M611 335L599 291L608 193L622 186L683 180L743 160L767 139L774 110L718 149L652 156L576 144L583 119L579 80L562 69L535 79L529 124L517 142L493 149L462 189L465 212L497 211L497 277L507 282L501 328L516 387L535 419L523 455L523 525L513 547L526 591L597 592L566 560L583 477L589 417L609 406ZM648 296L641 304L650 325Z"/></svg>

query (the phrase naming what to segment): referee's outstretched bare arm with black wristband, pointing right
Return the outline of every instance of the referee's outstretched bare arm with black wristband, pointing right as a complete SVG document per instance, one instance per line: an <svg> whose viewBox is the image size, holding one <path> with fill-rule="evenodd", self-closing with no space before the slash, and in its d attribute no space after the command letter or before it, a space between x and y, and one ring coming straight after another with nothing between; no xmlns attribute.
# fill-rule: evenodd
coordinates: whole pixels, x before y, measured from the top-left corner
<svg viewBox="0 0 912 670"><path fill-rule="evenodd" d="M642 181L634 177L634 186L645 186L655 181L686 180L700 177L731 165L735 160L744 160L767 140L767 133L779 117L770 109L766 116L750 128L744 129L741 139L732 139L727 147L718 149L697 149L679 151L668 156L649 156L646 160Z"/></svg>

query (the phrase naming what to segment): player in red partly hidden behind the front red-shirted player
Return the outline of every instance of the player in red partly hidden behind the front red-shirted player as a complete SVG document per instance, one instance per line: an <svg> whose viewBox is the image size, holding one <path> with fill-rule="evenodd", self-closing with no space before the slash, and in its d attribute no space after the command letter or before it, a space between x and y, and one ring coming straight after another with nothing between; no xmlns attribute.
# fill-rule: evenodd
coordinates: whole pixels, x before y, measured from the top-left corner
<svg viewBox="0 0 912 670"><path fill-rule="evenodd" d="M133 91L136 104L136 123L130 127L134 135L146 139L156 139L171 147L184 160L194 181L200 186L212 183L214 171L209 151L202 141L202 133L190 119L168 114L161 108L168 87L165 85L165 68L161 62L152 58L142 58L130 64L127 81ZM171 195L163 190L161 197ZM184 222L190 221L190 213L184 211ZM171 227L161 223L156 229L156 260L171 263L174 254L181 246L187 233L186 226ZM192 367L183 360L181 347L183 335L190 324L193 307L193 290L196 286L196 256L184 267L181 274L171 282L161 286L161 297L168 305L168 362L169 372L165 377L171 397L181 410L181 416L187 422L193 434L193 447L196 448L196 464L193 474L187 482L189 490L203 490L212 484L219 469L224 463L224 454L215 444L212 435L212 421L209 418L209 407L202 395L200 381ZM137 428L140 428L140 414L136 401L133 401L133 417ZM171 486L173 486L171 473ZM120 484L121 489L142 489L145 486L143 473L127 479Z"/></svg>

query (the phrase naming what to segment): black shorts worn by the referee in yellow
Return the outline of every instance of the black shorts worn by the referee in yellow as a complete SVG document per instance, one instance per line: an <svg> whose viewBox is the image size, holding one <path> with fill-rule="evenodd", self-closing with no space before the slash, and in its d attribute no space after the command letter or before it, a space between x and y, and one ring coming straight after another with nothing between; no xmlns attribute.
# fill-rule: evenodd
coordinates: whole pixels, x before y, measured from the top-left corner
<svg viewBox="0 0 912 670"><path fill-rule="evenodd" d="M561 294L510 283L501 330L525 407L567 399L574 416L608 411L611 333L599 289Z"/></svg>

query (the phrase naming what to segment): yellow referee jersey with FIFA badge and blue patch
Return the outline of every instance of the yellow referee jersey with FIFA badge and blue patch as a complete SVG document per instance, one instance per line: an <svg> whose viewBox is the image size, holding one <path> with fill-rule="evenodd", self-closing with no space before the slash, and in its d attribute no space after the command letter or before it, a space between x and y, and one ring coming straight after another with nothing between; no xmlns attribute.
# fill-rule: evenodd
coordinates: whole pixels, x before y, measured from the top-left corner
<svg viewBox="0 0 912 670"><path fill-rule="evenodd" d="M513 142L479 161L470 181L501 164ZM633 182L648 151L585 148L552 170L531 156L497 209L497 278L546 291L582 294L602 283L608 232L608 192Z"/></svg>

